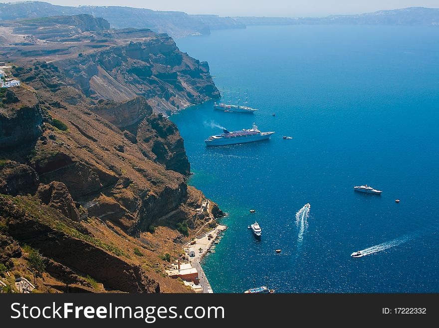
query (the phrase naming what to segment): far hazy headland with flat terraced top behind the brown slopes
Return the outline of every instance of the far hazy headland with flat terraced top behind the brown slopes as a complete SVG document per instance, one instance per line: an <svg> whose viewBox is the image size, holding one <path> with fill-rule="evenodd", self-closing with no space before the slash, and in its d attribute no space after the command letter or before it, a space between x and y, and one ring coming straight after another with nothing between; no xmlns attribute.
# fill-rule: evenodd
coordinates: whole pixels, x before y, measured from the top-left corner
<svg viewBox="0 0 439 328"><path fill-rule="evenodd" d="M54 63L56 76L41 80L53 92L66 84L80 88L81 96L90 100L122 102L142 95L156 112L167 115L219 97L208 63L181 52L166 34L149 29L105 29L108 22L91 15L1 25L12 27L0 28L0 35L10 41L0 46L0 54L18 63L32 59ZM17 38L26 42L17 43ZM35 74L21 76L23 73L17 71L24 82L35 78Z"/></svg>

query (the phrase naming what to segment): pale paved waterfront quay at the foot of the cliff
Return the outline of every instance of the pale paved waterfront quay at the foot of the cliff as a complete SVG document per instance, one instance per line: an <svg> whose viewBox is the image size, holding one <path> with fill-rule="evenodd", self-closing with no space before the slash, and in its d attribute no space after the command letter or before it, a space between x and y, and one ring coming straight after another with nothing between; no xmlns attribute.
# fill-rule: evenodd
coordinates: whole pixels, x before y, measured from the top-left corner
<svg viewBox="0 0 439 328"><path fill-rule="evenodd" d="M214 243L219 242L220 234L223 233L226 229L227 226L218 225L213 230L210 230L198 237L195 237L195 244L191 245L191 241L189 241L185 245L183 245L183 249L185 250L186 254L189 255L190 250L195 251L194 257L189 256L189 262L199 272L200 285L203 287L203 293L214 293L214 291L212 290L209 280L204 273L203 267L201 266L201 261L206 256L206 254L211 251ZM212 236L212 238L209 238L209 236ZM202 251L199 251L200 248L202 249Z"/></svg>

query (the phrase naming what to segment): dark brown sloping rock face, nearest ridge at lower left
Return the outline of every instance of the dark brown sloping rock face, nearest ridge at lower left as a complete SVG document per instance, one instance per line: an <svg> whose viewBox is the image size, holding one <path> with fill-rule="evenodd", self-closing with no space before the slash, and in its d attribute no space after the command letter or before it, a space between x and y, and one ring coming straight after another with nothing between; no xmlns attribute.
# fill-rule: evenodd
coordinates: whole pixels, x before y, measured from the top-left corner
<svg viewBox="0 0 439 328"><path fill-rule="evenodd" d="M149 279L139 266L131 265L121 257L87 242L91 238L82 237L85 240L81 240L81 237L73 237L81 235L67 218L62 219L56 216L56 212L44 207L41 212L47 213L44 218L39 218L29 214L32 200L18 199L16 203L14 206L13 202L0 196L0 215L6 221L8 234L14 239L78 272L88 273L108 288L129 293L160 292L159 285ZM22 204L26 204L27 211L20 209ZM54 220L53 216L59 221Z"/></svg>

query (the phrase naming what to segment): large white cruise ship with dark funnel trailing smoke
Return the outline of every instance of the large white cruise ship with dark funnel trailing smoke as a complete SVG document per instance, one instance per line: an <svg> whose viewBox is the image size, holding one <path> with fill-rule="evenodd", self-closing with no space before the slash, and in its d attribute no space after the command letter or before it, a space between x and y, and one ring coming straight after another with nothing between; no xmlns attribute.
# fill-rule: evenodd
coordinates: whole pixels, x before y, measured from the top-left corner
<svg viewBox="0 0 439 328"><path fill-rule="evenodd" d="M261 132L257 129L257 126L253 124L251 129L242 129L241 131L229 132L227 129L222 129L222 134L210 136L206 139L206 145L208 146L224 146L233 145L237 143L253 142L259 140L265 140L270 137L274 132Z"/></svg>

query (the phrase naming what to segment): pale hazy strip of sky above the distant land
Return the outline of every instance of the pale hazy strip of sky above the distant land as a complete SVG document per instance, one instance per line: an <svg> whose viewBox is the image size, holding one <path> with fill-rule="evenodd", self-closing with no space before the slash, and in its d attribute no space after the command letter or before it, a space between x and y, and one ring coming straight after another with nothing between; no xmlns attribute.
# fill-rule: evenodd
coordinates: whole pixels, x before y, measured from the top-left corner
<svg viewBox="0 0 439 328"><path fill-rule="evenodd" d="M44 1L44 0L42 0ZM439 0L45 0L60 5L122 5L221 16L327 16L413 6L439 7ZM6 2L2 0L2 2Z"/></svg>

